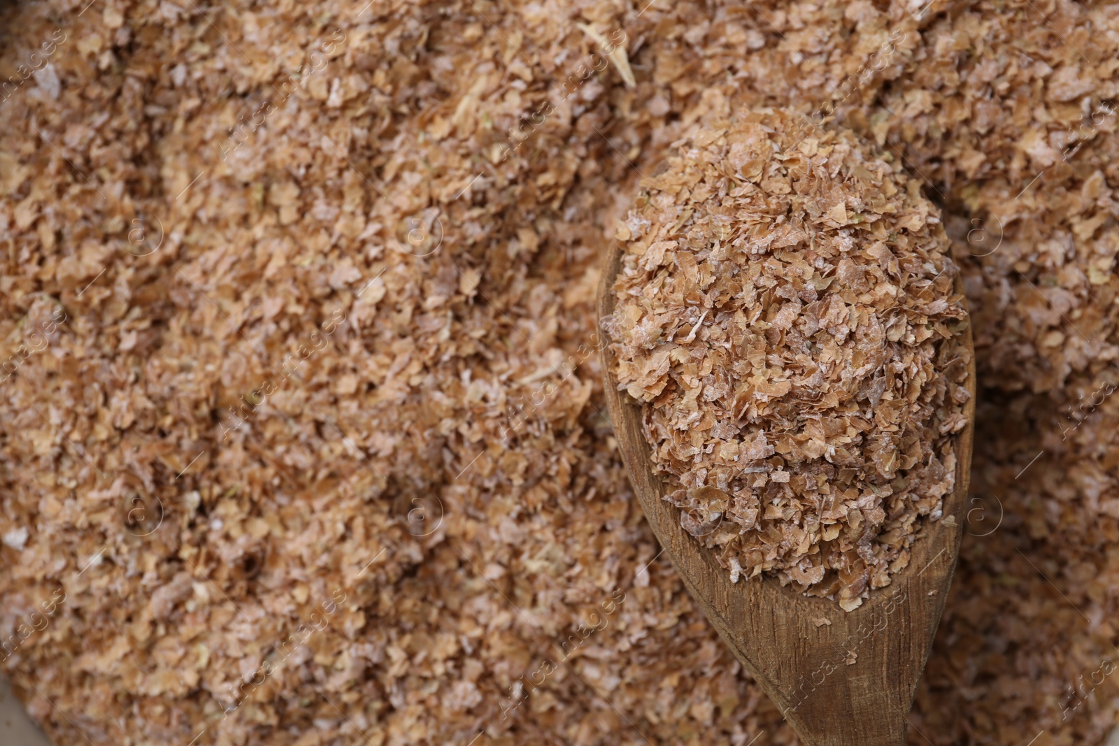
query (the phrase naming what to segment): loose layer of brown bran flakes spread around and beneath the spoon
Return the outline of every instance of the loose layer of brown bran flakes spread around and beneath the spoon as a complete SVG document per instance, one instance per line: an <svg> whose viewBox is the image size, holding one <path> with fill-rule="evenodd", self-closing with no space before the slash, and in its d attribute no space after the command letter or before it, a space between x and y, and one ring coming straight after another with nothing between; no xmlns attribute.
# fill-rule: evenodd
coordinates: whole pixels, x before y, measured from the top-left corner
<svg viewBox="0 0 1119 746"><path fill-rule="evenodd" d="M1085 692L1119 642L1119 397L1066 440L1059 425L1119 341L1113 117L1068 182L1053 169L1026 192L1019 238L972 261L986 249L962 237L986 217L969 189L1002 205L1036 173L1006 179L1019 133L1115 96L1113 3L85 6L0 4L4 81L66 35L0 103L3 358L66 313L0 383L0 638L66 594L0 667L57 744L797 743L664 555L649 565L601 414L593 295L638 171L673 142L744 104L840 98L962 220L975 312L987 521L967 529L908 743L1104 743L1119 676ZM634 87L610 62L560 100L596 49L583 27L626 31ZM224 160L231 128L337 30L329 65ZM1018 49L1045 65L991 77ZM1069 70L1094 87L1056 105ZM957 167L970 149L988 170ZM394 248L432 207L439 251ZM138 215L166 227L148 257L121 248ZM328 347L223 440L228 407L337 311ZM145 480L167 514L139 537ZM445 518L416 536L432 495ZM338 587L341 611L223 719ZM525 684L613 588L609 624Z"/></svg>

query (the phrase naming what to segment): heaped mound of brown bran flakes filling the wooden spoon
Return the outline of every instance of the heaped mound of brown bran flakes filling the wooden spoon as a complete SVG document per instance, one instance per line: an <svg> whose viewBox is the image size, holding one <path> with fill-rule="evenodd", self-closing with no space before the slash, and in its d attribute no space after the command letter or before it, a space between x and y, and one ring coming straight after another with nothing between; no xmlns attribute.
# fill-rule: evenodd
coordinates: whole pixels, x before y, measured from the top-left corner
<svg viewBox="0 0 1119 746"><path fill-rule="evenodd" d="M720 561L846 611L956 483L967 312L937 208L788 111L694 134L624 224L608 327L665 495Z"/></svg>

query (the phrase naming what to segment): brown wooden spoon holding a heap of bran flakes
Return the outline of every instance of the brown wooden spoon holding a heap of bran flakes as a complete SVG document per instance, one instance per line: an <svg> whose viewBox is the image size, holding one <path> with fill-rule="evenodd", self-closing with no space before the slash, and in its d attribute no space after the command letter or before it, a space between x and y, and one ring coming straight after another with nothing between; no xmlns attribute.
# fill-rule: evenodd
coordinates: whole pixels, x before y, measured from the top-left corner
<svg viewBox="0 0 1119 746"><path fill-rule="evenodd" d="M621 246L613 242L599 285L600 319L613 313L611 289L621 256ZM956 290L962 294L959 280ZM599 333L606 340L601 327ZM653 471L641 432L641 405L618 390L613 355L609 344L602 344L614 435L652 532L707 620L808 746L905 742L913 692L960 550L971 472L976 371L970 327L957 339L972 355L968 424L956 438L956 490L944 499L944 517L925 525L909 566L893 576L892 585L872 591L853 612L844 612L835 601L781 587L764 575L731 583L715 553L680 528L679 508L661 499L675 487ZM817 620L830 624L817 625Z"/></svg>

